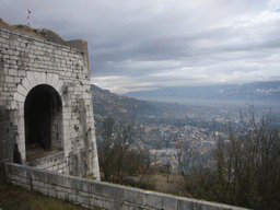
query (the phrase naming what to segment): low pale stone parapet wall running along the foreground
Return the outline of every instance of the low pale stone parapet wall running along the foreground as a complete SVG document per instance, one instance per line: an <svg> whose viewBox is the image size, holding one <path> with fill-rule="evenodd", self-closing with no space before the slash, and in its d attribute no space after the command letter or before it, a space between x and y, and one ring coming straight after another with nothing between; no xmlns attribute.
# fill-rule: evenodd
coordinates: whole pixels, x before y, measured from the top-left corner
<svg viewBox="0 0 280 210"><path fill-rule="evenodd" d="M85 178L47 172L30 166L4 163L8 180L15 185L67 199L83 207L104 209L153 210L242 210L243 208L182 198L137 188L94 182Z"/></svg>

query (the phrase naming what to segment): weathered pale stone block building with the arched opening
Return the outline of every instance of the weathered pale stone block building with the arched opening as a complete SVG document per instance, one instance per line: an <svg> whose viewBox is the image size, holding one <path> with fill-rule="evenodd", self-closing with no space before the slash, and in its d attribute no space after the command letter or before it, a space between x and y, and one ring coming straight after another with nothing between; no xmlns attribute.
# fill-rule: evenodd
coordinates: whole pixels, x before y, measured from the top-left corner
<svg viewBox="0 0 280 210"><path fill-rule="evenodd" d="M22 164L100 179L88 43L45 33L54 42L0 24L0 125L15 132L0 139L0 162L14 162L16 144Z"/></svg>

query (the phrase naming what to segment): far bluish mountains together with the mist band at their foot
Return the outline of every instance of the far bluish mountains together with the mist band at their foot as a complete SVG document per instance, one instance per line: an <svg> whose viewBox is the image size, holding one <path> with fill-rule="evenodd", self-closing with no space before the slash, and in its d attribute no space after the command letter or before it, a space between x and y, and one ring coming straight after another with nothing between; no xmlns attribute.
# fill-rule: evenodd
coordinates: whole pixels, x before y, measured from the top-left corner
<svg viewBox="0 0 280 210"><path fill-rule="evenodd" d="M164 88L153 91L129 92L126 94L138 100L170 102L192 106L246 107L254 103L258 108L272 107L279 112L280 81L255 82L243 85L225 84L212 86Z"/></svg>

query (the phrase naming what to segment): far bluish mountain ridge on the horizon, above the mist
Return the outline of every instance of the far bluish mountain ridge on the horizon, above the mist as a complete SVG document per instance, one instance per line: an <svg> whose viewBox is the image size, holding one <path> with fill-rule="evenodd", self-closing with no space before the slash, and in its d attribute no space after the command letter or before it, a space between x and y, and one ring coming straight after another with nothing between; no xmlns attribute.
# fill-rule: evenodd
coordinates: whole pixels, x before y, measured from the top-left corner
<svg viewBox="0 0 280 210"><path fill-rule="evenodd" d="M130 97L158 101L159 98L252 100L280 102L280 81L254 82L242 85L162 88L153 91L129 92Z"/></svg>

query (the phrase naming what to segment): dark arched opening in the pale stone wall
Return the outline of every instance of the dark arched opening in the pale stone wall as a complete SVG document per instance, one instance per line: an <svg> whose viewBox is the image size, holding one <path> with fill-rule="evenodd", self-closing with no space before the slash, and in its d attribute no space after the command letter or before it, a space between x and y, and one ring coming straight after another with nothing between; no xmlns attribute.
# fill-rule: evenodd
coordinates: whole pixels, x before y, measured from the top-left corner
<svg viewBox="0 0 280 210"><path fill-rule="evenodd" d="M24 102L26 158L34 153L61 150L62 103L50 85L33 88Z"/></svg>

